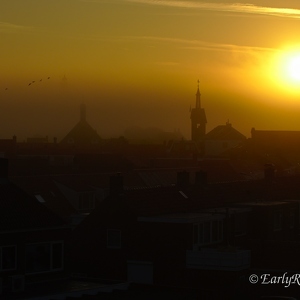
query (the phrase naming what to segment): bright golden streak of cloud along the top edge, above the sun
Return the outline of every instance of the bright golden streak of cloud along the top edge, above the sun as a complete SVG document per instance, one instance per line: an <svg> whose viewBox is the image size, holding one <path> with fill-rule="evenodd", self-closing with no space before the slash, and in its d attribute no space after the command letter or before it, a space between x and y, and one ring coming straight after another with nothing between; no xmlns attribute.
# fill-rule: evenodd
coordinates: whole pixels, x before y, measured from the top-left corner
<svg viewBox="0 0 300 300"><path fill-rule="evenodd" d="M88 0L86 0L88 1ZM95 1L95 0L90 0ZM126 0L131 3L170 6L178 8L193 8L208 11L231 12L231 13L246 13L256 15L269 15L277 17L300 18L300 10L294 8L276 8L257 6L253 4L242 3L212 3L199 1L173 1L173 0Z"/></svg>

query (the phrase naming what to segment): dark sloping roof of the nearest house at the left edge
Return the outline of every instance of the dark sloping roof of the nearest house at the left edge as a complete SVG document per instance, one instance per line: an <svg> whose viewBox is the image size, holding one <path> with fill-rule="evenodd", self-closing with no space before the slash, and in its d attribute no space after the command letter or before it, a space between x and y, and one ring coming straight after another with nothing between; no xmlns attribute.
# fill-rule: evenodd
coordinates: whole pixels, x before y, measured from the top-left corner
<svg viewBox="0 0 300 300"><path fill-rule="evenodd" d="M37 199L8 181L0 183L0 232L57 228L65 223Z"/></svg>

